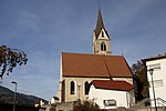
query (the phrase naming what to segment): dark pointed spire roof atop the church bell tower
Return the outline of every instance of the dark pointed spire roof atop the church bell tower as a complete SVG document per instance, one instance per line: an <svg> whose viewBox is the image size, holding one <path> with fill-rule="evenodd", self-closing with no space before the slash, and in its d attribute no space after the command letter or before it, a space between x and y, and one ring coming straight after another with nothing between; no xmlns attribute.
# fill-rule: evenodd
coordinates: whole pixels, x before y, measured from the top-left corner
<svg viewBox="0 0 166 111"><path fill-rule="evenodd" d="M106 34L108 37L108 33L107 33L107 31L104 28L101 9L98 7L97 22L96 22L96 27L95 27L95 30L94 30L96 38L98 37L98 34L100 34L102 29L104 29L104 31L106 32Z"/></svg>

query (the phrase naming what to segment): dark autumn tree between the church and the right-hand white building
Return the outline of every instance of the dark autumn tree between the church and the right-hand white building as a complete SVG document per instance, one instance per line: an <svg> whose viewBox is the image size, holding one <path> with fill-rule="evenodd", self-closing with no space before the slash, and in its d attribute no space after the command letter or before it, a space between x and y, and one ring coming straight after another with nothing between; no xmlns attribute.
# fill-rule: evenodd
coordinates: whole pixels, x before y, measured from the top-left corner
<svg viewBox="0 0 166 111"><path fill-rule="evenodd" d="M134 63L132 65L132 70L135 73L135 80L137 84L137 93L136 99L142 100L145 98L148 98L148 81L146 75L146 67L143 64L143 62L137 61L137 63Z"/></svg>

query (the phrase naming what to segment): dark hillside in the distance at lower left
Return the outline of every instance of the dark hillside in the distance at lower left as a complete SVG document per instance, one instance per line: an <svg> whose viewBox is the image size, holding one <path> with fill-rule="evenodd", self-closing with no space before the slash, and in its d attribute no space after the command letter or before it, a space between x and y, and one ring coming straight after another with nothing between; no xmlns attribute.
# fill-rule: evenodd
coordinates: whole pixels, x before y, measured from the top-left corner
<svg viewBox="0 0 166 111"><path fill-rule="evenodd" d="M4 88L2 85L0 85L0 103L9 103L12 104L13 103L13 94L14 92L11 91L8 88ZM34 103L39 100L43 100L44 103L48 103L46 100L34 97L34 95L27 95L23 93L17 93L17 104L19 105L34 105Z"/></svg>

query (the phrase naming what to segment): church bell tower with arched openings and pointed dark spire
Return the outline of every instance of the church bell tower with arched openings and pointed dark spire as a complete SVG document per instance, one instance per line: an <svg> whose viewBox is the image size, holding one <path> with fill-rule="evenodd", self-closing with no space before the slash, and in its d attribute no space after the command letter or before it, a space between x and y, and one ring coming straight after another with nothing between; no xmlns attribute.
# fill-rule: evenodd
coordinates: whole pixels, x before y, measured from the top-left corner
<svg viewBox="0 0 166 111"><path fill-rule="evenodd" d="M98 7L97 22L93 32L93 54L111 54L111 38L104 28L101 9Z"/></svg>

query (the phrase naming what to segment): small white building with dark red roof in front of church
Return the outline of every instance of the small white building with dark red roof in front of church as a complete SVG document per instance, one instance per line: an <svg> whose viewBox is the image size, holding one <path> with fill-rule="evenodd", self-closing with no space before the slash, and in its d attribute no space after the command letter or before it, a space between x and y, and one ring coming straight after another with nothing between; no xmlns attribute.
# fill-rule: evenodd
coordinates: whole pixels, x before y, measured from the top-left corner
<svg viewBox="0 0 166 111"><path fill-rule="evenodd" d="M89 98L100 109L129 108L135 103L134 87L126 81L93 80Z"/></svg>

